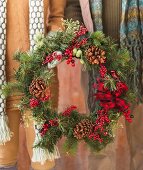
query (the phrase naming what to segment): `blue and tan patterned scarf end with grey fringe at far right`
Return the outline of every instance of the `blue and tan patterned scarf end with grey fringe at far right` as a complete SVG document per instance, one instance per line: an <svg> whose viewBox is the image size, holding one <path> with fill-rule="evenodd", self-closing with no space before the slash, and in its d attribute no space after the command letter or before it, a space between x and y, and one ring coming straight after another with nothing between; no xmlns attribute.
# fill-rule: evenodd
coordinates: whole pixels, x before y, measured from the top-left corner
<svg viewBox="0 0 143 170"><path fill-rule="evenodd" d="M134 88L143 95L143 0L123 0L120 44L126 46L137 62Z"/></svg>

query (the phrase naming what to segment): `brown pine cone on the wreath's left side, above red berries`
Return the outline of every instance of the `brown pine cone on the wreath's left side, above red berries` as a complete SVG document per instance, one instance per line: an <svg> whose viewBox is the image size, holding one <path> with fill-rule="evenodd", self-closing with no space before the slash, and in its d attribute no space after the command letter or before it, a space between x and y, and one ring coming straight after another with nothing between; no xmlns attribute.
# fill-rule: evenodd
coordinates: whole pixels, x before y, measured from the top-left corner
<svg viewBox="0 0 143 170"><path fill-rule="evenodd" d="M35 96L36 98L43 98L45 97L45 90L46 85L43 79L35 79L29 86L29 92L31 95Z"/></svg>

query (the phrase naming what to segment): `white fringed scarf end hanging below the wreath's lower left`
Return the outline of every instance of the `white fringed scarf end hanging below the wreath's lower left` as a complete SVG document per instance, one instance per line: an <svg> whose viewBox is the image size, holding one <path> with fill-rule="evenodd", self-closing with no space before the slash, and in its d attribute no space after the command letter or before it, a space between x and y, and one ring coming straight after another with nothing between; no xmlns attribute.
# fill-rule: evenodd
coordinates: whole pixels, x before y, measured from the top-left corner
<svg viewBox="0 0 143 170"><path fill-rule="evenodd" d="M37 126L35 126L35 133L36 133L36 137L35 137L34 145L39 143L41 140L41 135L39 134L39 130L37 129ZM40 147L33 148L32 162L40 162L41 164L44 164L47 160L53 161L54 159L58 159L58 158L60 158L60 153L57 146L55 146L53 153L49 152L48 149L43 149Z"/></svg>

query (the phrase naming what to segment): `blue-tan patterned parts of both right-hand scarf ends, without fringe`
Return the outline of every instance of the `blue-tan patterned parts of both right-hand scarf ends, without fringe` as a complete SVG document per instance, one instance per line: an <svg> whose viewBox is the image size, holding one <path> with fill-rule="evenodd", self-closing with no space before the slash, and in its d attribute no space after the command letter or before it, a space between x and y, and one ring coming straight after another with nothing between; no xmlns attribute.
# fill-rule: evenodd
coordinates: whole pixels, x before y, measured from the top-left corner
<svg viewBox="0 0 143 170"><path fill-rule="evenodd" d="M102 0L89 0L95 30L102 31ZM143 34L143 0L122 0L120 39Z"/></svg>

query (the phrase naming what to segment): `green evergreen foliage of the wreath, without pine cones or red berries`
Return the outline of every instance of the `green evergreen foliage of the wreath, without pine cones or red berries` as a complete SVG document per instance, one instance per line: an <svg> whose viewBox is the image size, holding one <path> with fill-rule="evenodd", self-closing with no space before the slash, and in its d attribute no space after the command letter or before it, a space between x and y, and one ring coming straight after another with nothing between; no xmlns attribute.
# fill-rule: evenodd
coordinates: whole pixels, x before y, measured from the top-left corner
<svg viewBox="0 0 143 170"><path fill-rule="evenodd" d="M64 54L65 50L73 45L73 40L80 28L79 22L64 20L63 24L65 27L64 31L59 30L55 33L52 32L47 36L43 36L39 33L35 37L36 46L33 51L16 52L14 59L19 62L19 68L15 70L14 74L16 82L7 83L3 86L2 91L6 97L12 94L22 93L23 96L18 108L22 113L24 113L26 109L31 110L33 119L37 124L43 125L45 122L49 122L50 120L57 121L58 125L50 126L46 134L42 136L42 139L35 145L35 147L48 148L50 152L53 152L54 146L62 138L62 136L64 136L66 137L64 149L66 152L73 154L76 152L78 142L81 141L74 137L74 128L83 119L92 120L92 123L96 125L95 122L99 118L99 115L95 112L90 116L81 115L78 111L74 110L70 113L70 115L63 116L62 113L58 114L57 111L52 108L52 100L39 100L29 92L29 86L36 78L43 79L46 86L50 87L51 82L54 80L55 73L54 69L48 69L47 65L43 64L45 58L55 51L60 51ZM100 31L92 34L87 33L84 36L81 36L76 42L79 43L85 37L87 38L87 43L79 47L82 51L80 60L83 63L83 67L86 69L95 69L99 74L100 65L91 65L85 57L85 51L91 45L104 50L106 56L106 63L104 65L108 70L106 77L102 79L105 87L107 87L111 93L116 90L117 80L110 74L112 70L116 71L120 80L127 83L129 86L129 91L126 95L124 95L123 99L127 102L133 103L136 98L137 91L133 85L137 77L135 71L136 63L130 57L127 49L119 49L117 44L115 44L110 37L105 37L105 35ZM75 47L73 46L72 48ZM67 56L63 55L62 60L65 61L67 59L66 57ZM74 56L72 57L72 59L75 59ZM30 107L30 99L38 100L38 106ZM102 108L99 101L97 101L96 110L100 109ZM108 132L108 135L103 135L100 130L97 131L100 138L103 140L102 142L90 139L88 136L83 139L92 151L98 152L113 141L113 127L117 125L121 115L122 113L118 112L116 109L108 112L111 122L104 125L104 129Z"/></svg>

